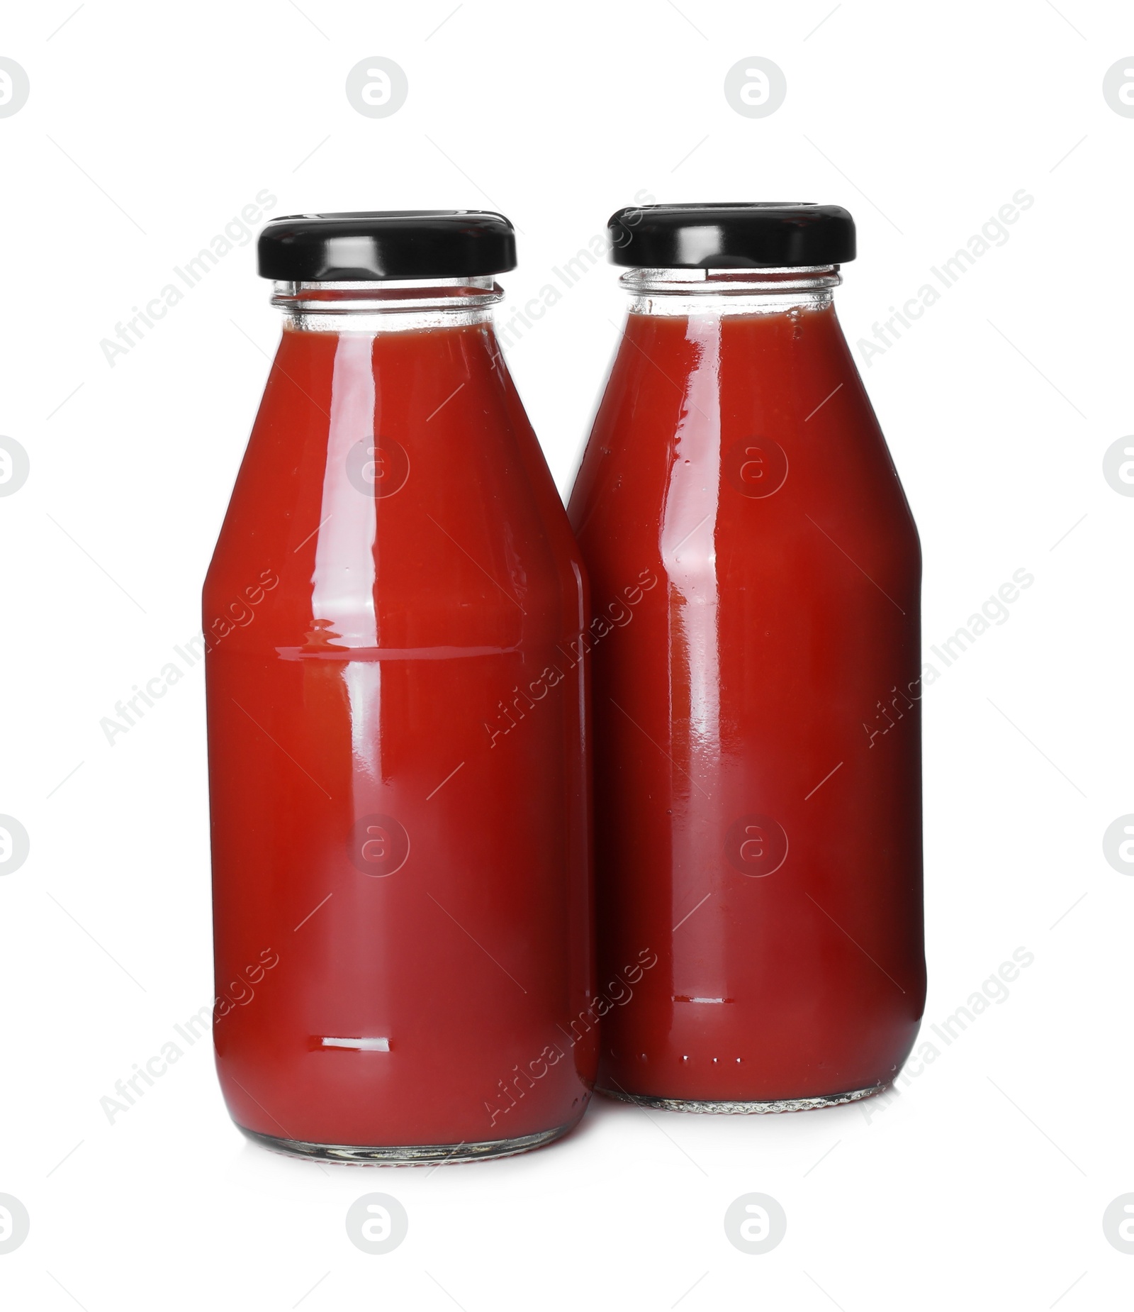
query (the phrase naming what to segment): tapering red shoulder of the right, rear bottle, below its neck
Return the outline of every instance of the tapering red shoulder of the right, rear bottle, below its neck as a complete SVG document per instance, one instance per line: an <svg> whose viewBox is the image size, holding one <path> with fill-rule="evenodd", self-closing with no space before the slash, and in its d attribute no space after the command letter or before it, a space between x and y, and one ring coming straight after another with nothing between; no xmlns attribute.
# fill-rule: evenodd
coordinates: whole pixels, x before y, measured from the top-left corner
<svg viewBox="0 0 1134 1312"><path fill-rule="evenodd" d="M832 311L631 316L569 502L577 534L616 504L648 529L680 504L700 518L734 496L909 517Z"/></svg>

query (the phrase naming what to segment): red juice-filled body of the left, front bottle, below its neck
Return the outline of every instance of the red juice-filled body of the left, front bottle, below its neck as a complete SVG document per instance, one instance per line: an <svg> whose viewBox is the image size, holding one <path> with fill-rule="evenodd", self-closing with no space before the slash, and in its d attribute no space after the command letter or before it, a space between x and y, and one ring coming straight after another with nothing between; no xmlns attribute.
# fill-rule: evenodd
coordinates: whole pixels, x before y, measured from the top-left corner
<svg viewBox="0 0 1134 1312"><path fill-rule="evenodd" d="M294 316L208 572L214 1033L245 1131L429 1160L593 1084L587 598L488 315L406 323Z"/></svg>

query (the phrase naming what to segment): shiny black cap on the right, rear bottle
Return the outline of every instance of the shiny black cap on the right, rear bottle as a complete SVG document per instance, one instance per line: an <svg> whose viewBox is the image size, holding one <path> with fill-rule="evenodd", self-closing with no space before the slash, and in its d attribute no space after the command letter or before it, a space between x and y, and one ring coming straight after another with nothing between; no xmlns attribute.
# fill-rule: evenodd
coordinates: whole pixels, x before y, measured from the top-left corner
<svg viewBox="0 0 1134 1312"><path fill-rule="evenodd" d="M855 258L855 220L839 205L641 205L607 224L611 261L635 269L798 269Z"/></svg>

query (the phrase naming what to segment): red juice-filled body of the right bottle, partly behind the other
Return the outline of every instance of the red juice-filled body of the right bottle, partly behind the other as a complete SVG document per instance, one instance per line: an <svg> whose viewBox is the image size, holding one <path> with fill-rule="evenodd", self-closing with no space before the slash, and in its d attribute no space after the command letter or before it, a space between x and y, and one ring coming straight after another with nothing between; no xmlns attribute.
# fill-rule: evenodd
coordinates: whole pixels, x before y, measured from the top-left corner
<svg viewBox="0 0 1134 1312"><path fill-rule="evenodd" d="M658 955L599 1086L842 1101L924 1004L916 530L823 277L653 277L569 506L596 615L658 579L593 651L600 979Z"/></svg>

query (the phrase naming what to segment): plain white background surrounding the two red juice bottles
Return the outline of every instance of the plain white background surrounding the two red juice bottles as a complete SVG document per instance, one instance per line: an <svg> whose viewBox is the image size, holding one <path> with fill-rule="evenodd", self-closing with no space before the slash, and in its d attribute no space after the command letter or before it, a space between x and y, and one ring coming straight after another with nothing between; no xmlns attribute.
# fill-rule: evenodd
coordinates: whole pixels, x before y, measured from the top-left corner
<svg viewBox="0 0 1134 1312"><path fill-rule="evenodd" d="M0 879L0 1193L31 1218L5 1307L1126 1305L1134 1257L1101 1218L1134 1190L1134 880L1101 840L1134 811L1134 499L1103 455L1134 428L1134 119L1101 88L1134 22L1079 0L678 3L5 7L0 55L31 87L0 118L0 433L31 461L0 500L0 811L31 841ZM389 118L343 92L371 55L409 79ZM788 83L760 119L722 92L751 55ZM505 310L640 189L838 202L852 344L1034 197L860 365L922 531L927 647L1036 580L924 699L940 1056L898 1097L776 1118L599 1099L526 1157L320 1168L244 1141L201 1042L108 1122L100 1098L211 998L199 666L113 747L100 719L199 627L278 336L254 244L113 367L100 341L265 188L274 214L502 210ZM509 352L564 489L620 312L599 264ZM1017 947L1011 996L935 1039ZM368 1191L409 1214L388 1256L345 1232ZM750 1191L788 1218L764 1256L722 1228Z"/></svg>

